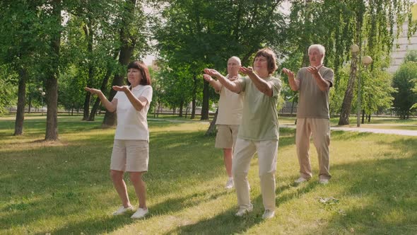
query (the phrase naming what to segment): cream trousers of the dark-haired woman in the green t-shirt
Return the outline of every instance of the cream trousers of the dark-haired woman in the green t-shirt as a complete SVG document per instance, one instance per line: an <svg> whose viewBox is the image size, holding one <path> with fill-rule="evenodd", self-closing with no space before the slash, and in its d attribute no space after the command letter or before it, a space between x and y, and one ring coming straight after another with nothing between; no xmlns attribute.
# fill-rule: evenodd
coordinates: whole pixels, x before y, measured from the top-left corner
<svg viewBox="0 0 417 235"><path fill-rule="evenodd" d="M252 207L247 173L250 160L258 152L259 178L265 210L275 210L275 171L278 140L252 141L237 137L233 152L232 174L239 209Z"/></svg>

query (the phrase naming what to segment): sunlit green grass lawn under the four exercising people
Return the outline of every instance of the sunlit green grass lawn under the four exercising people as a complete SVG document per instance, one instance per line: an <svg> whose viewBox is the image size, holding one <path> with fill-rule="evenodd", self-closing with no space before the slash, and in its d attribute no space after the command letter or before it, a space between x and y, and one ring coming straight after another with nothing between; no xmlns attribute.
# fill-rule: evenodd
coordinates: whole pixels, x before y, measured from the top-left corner
<svg viewBox="0 0 417 235"><path fill-rule="evenodd" d="M417 234L417 137L332 132L329 185L317 183L312 147L316 175L295 186L295 130L281 128L276 217L264 221L256 157L254 212L237 218L209 124L150 121L150 214L132 220L110 215L120 205L109 176L114 129L100 129L101 118L60 116L56 143L42 141L45 116L25 118L22 137L0 118L0 234Z"/></svg>

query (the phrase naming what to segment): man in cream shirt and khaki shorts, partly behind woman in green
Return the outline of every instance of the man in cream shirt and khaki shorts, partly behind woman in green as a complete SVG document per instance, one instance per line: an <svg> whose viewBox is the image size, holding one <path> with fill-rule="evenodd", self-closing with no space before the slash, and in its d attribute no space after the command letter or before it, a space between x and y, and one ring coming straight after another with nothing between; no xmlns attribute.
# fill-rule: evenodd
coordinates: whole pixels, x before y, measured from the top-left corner
<svg viewBox="0 0 417 235"><path fill-rule="evenodd" d="M228 75L226 79L230 81L239 79L240 65L240 59L238 57L230 57L228 59ZM239 130L240 122L242 122L243 96L242 93L237 94L229 91L220 81L211 78L208 74L204 74L204 79L209 81L209 84L213 86L217 93L220 93L216 120L217 134L215 147L223 149L226 173L229 177L225 188L231 189L233 188L233 147L236 144L237 130Z"/></svg>

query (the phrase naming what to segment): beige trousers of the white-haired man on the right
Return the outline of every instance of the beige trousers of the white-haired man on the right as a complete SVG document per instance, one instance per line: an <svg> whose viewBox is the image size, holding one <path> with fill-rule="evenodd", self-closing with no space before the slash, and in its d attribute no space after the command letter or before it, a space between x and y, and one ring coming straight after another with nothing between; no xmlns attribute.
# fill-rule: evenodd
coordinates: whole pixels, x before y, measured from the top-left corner
<svg viewBox="0 0 417 235"><path fill-rule="evenodd" d="M297 132L295 145L297 146L298 162L300 164L300 176L305 179L312 177L310 166L310 136L317 149L319 158L319 178L329 179L329 145L330 145L330 122L326 118L297 118Z"/></svg>

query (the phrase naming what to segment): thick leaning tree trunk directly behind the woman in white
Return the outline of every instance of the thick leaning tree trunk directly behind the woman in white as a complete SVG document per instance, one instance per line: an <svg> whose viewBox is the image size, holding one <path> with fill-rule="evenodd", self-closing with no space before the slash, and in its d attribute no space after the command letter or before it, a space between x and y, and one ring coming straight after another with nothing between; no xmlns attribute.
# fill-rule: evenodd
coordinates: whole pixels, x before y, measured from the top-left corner
<svg viewBox="0 0 417 235"><path fill-rule="evenodd" d="M122 28L120 28L120 53L119 53L119 64L126 67L130 62L131 53L135 47L134 37L129 33L129 23L134 19L134 11L136 6L136 0L129 0L126 2L125 13L122 18ZM124 80L124 74L114 74L112 86L122 86ZM112 101L117 91L110 90L109 101ZM102 127L112 127L116 125L117 121L116 112L110 113L106 110L104 120L102 120Z"/></svg>

